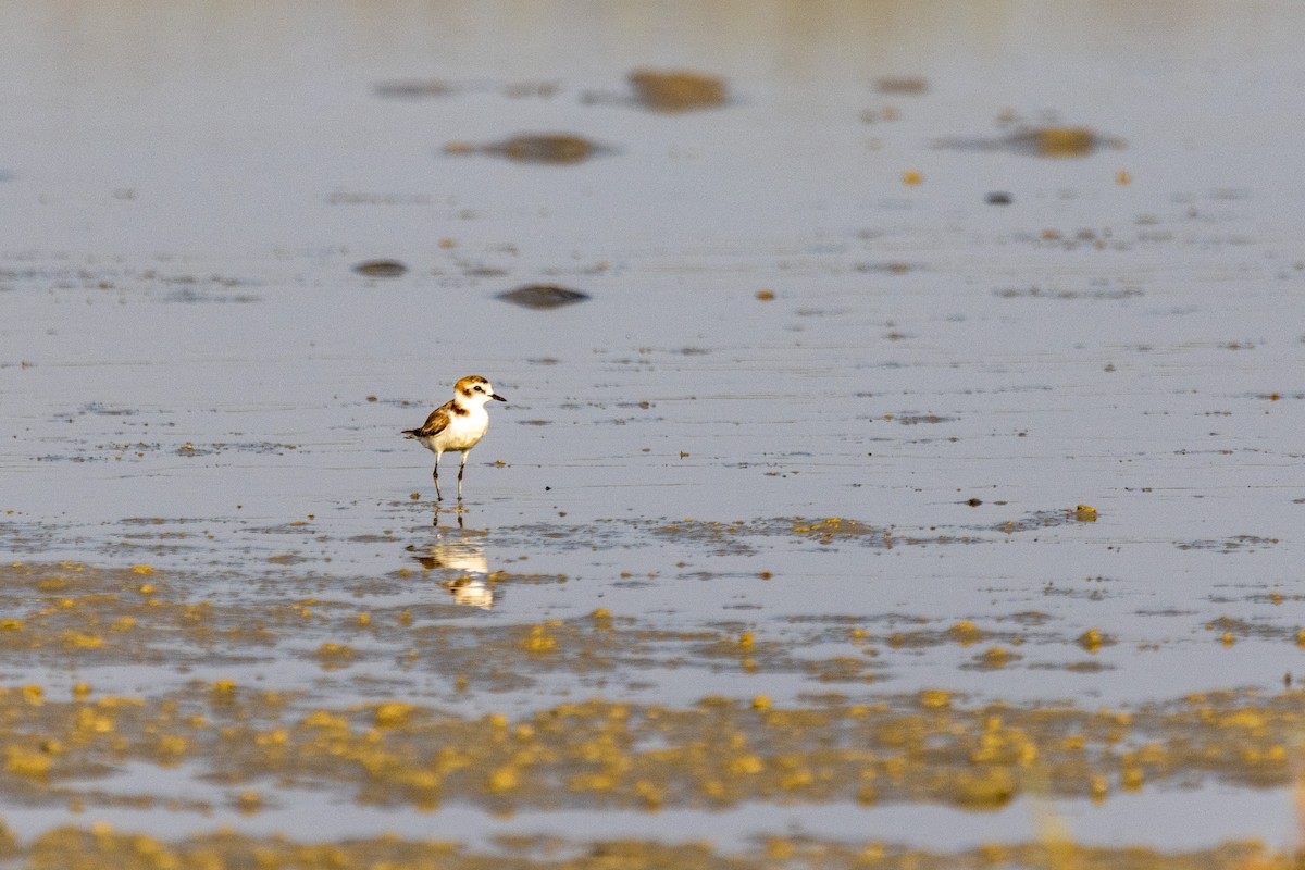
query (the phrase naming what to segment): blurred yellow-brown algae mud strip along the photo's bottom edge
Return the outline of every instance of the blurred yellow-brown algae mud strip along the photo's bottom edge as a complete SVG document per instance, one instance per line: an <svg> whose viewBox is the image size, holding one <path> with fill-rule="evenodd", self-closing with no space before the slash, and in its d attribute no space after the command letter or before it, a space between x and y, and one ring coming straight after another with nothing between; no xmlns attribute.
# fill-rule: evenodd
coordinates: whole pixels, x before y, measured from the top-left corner
<svg viewBox="0 0 1305 870"><path fill-rule="evenodd" d="M1293 857L1271 852L1258 843L1229 843L1193 852L1164 852L1142 847L1077 845L1039 840L1026 844L981 844L962 852L914 850L882 843L847 843L809 835L760 836L737 850L711 843L664 843L658 839L602 839L500 836L508 854L501 858L467 850L461 844L408 840L398 836L350 839L335 843L296 843L286 836L254 837L217 833L162 844L141 835L93 832L65 827L33 841L23 866L31 870L114 867L121 870L221 870L257 867L279 870L339 870L342 867L438 867L484 870L506 866L607 867L619 870L699 870L702 867L876 867L877 870L951 870L954 867L1095 867L1134 870L1268 870L1291 867ZM12 836L0 856L23 853ZM542 857L534 857L540 854ZM556 858L557 852L582 856Z"/></svg>

